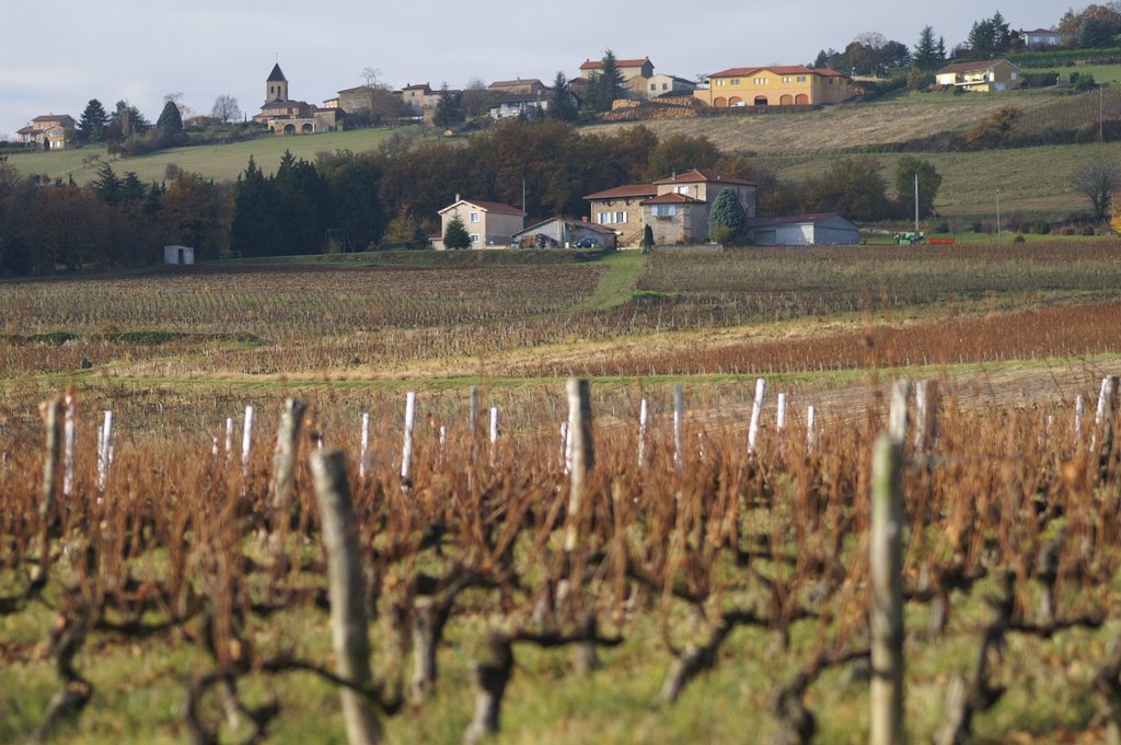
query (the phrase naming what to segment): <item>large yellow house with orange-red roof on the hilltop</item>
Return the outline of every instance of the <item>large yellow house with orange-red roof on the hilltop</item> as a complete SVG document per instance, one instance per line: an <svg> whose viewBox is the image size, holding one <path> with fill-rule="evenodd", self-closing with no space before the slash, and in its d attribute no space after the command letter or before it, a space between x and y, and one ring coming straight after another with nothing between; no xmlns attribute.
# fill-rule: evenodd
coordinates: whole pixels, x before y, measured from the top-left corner
<svg viewBox="0 0 1121 745"><path fill-rule="evenodd" d="M694 97L714 109L840 103L856 95L852 81L834 69L802 65L732 67L708 76Z"/></svg>

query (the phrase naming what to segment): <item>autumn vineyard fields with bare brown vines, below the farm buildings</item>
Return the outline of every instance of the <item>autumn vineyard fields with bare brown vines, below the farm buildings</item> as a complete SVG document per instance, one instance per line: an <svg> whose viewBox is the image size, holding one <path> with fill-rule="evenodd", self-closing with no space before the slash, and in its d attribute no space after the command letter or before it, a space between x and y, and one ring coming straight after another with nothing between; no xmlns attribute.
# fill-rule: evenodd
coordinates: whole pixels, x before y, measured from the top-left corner
<svg viewBox="0 0 1121 745"><path fill-rule="evenodd" d="M0 742L1121 737L1113 242L549 261L6 285Z"/></svg>

